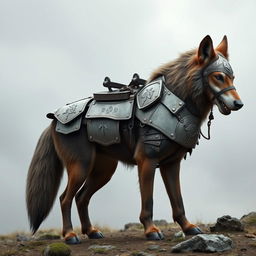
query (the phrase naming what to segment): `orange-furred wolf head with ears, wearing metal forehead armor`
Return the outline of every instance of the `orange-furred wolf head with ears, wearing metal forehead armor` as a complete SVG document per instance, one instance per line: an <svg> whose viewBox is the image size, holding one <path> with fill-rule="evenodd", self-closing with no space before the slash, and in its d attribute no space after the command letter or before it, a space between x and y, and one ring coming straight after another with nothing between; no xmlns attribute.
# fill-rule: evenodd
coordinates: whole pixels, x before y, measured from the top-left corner
<svg viewBox="0 0 256 256"><path fill-rule="evenodd" d="M199 45L197 62L203 70L204 89L219 111L229 115L242 108L243 103L233 85L233 69L228 62L227 37L224 36L214 49L211 37L206 36Z"/></svg>

